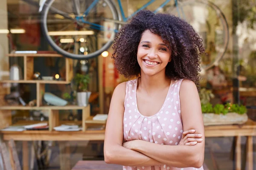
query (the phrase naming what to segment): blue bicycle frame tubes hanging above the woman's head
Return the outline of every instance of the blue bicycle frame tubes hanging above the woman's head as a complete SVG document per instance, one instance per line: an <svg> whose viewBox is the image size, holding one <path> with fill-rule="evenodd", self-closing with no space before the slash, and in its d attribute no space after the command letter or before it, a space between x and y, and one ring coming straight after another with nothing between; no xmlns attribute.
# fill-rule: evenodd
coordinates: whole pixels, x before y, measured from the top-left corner
<svg viewBox="0 0 256 170"><path fill-rule="evenodd" d="M130 16L128 17L125 17L125 13L124 13L124 10L122 8L122 3L121 3L121 0L117 0L118 1L118 5L119 5L119 9L121 11L121 15L122 15L122 20L124 22L127 22L131 17L133 17L135 14L137 14L139 11L147 8L151 3L154 3L156 0L150 0L148 3L146 3L145 5L143 5L141 8L139 8L137 11L135 11L133 14L131 14ZM157 13L157 11L159 11L161 8L163 8L163 6L165 6L167 3L169 3L171 0L166 0L164 3L162 3L155 11L154 13ZM99 24L95 24L95 23L91 23L91 22L88 22L86 20L84 20L84 16L86 17L90 10L94 8L94 6L99 2L99 0L93 0L93 3L90 4L90 6L86 9L86 11L84 11L84 14L81 15L81 16L78 16L76 17L76 20L79 20L81 21L82 23L86 23L86 24L90 24L91 27L90 28L94 28L94 29L98 29L98 30L104 30L104 26L101 26ZM178 4L177 4L177 0L175 0L175 6L177 7L177 12L180 16L180 12L179 12L179 9L178 9ZM114 21L113 21L114 22ZM108 30L110 30L108 28ZM111 31L115 31L115 32L118 32L118 30L116 29L112 29Z"/></svg>

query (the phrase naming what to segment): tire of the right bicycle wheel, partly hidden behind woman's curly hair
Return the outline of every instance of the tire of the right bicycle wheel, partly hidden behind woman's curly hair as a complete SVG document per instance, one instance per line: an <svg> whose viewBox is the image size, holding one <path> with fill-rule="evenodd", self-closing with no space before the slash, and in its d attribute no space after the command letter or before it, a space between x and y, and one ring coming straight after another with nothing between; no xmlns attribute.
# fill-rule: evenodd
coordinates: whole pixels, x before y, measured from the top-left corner
<svg viewBox="0 0 256 170"><path fill-rule="evenodd" d="M225 32L225 35L223 36L224 37L224 51L222 52L222 54L220 54L217 58L215 58L215 60L207 65L201 65L201 68L204 69L204 70L208 70L209 68L212 68L212 66L215 65L215 63L218 63L223 57L224 57L224 54L226 53L227 51L227 47L228 47L228 43L229 43L229 39L230 39L230 35L229 35L229 26L228 26L228 23L227 23L227 19L224 15L224 13L221 11L221 9L215 5L214 3L210 2L209 0L181 0L181 2L183 4L186 4L186 3L202 3L206 6L209 6L210 8L212 8L213 10L216 11L216 13L221 17L221 22L222 22L222 26L224 28L224 32ZM177 7L175 7L177 8ZM181 6L182 8L182 6Z"/></svg>

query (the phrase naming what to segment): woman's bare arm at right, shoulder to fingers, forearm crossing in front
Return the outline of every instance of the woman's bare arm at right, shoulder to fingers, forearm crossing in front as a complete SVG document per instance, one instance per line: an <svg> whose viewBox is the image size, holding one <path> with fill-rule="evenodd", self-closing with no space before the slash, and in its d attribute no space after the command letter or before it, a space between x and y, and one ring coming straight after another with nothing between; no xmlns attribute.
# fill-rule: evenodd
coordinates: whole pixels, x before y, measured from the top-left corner
<svg viewBox="0 0 256 170"><path fill-rule="evenodd" d="M140 153L172 167L200 168L204 162L204 124L201 103L195 83L183 80L180 87L181 117L183 130L195 129L202 135L202 142L194 146L161 145L145 141L132 141L131 144ZM149 149L150 148L150 149Z"/></svg>

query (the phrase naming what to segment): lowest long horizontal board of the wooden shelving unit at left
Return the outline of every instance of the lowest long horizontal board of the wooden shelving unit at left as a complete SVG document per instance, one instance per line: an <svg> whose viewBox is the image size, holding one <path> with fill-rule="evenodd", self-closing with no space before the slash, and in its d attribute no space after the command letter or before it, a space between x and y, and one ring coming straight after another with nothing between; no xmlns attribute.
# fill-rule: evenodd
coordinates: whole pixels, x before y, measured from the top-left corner
<svg viewBox="0 0 256 170"><path fill-rule="evenodd" d="M86 106L86 107L89 107ZM84 106L66 105L66 106L0 106L0 110L80 110L86 108Z"/></svg>

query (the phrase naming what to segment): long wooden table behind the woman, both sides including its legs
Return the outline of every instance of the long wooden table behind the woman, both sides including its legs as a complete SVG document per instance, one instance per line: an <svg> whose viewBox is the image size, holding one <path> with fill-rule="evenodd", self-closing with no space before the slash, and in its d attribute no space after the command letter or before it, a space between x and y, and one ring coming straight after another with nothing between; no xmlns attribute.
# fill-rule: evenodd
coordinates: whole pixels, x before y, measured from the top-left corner
<svg viewBox="0 0 256 170"><path fill-rule="evenodd" d="M103 141L105 139L105 130L87 130L85 132L29 130L23 132L2 131L1 133L4 140L23 141L23 170L28 168L29 152L27 141ZM241 170L241 136L247 137L247 167L248 170L253 170L253 136L256 136L256 122L249 119L244 125L205 126L205 137L227 136L234 136L236 138L236 170Z"/></svg>

